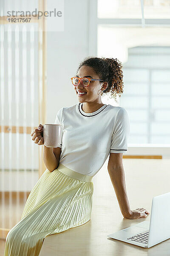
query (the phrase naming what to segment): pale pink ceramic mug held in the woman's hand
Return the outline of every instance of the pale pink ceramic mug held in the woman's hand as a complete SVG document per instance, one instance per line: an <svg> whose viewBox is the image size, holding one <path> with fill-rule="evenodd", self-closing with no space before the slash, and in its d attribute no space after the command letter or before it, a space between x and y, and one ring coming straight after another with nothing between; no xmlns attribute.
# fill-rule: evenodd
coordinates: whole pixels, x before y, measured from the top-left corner
<svg viewBox="0 0 170 256"><path fill-rule="evenodd" d="M62 127L56 124L43 125L44 145L47 148L57 148L62 140Z"/></svg>

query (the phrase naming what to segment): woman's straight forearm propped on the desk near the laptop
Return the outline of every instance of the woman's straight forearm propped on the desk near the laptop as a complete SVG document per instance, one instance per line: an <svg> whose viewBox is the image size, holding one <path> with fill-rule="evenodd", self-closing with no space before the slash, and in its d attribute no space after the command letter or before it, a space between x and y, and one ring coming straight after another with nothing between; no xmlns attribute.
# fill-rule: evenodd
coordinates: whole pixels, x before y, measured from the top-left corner
<svg viewBox="0 0 170 256"><path fill-rule="evenodd" d="M131 210L127 198L125 172L123 166L119 166L116 169L108 169L108 172L111 177L111 182L113 184L122 215L126 218L130 215Z"/></svg>

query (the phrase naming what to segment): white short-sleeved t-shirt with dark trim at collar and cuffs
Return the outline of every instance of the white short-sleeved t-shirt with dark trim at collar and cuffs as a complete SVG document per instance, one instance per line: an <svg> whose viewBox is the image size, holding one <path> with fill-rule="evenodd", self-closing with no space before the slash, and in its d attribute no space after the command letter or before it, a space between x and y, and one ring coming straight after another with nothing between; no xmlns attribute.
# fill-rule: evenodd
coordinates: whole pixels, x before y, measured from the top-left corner
<svg viewBox="0 0 170 256"><path fill-rule="evenodd" d="M59 163L85 175L94 176L109 153L125 153L130 132L125 108L103 105L85 113L82 103L59 109L55 124L62 126Z"/></svg>

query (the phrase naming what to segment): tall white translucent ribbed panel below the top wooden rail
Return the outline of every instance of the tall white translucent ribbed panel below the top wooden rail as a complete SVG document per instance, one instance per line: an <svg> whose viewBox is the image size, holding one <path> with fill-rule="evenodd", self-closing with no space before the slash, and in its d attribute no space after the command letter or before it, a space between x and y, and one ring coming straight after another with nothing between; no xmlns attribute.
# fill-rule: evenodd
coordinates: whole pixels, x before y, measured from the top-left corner
<svg viewBox="0 0 170 256"><path fill-rule="evenodd" d="M27 134L27 128L33 130L39 121L38 40L38 23L0 25L1 228L11 229L20 220L26 192L38 180L38 146ZM19 192L24 192L22 203Z"/></svg>

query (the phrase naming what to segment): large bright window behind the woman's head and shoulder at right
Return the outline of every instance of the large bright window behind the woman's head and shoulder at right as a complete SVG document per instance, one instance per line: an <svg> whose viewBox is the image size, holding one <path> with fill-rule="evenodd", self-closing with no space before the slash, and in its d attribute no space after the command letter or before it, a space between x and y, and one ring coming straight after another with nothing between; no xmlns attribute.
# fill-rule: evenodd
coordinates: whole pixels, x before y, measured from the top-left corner
<svg viewBox="0 0 170 256"><path fill-rule="evenodd" d="M94 0L90 7L97 18L90 17L89 55L123 66L118 104L102 102L127 109L129 144L170 144L170 1Z"/></svg>

